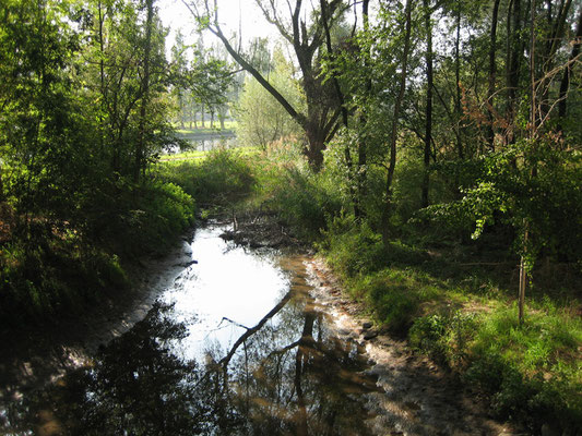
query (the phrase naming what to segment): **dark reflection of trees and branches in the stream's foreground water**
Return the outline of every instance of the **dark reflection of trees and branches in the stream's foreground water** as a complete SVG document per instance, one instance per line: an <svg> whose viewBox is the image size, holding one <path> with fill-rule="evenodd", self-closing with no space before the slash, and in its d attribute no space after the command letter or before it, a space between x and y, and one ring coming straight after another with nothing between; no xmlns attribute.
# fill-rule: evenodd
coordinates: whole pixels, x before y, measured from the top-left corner
<svg viewBox="0 0 582 436"><path fill-rule="evenodd" d="M38 428L49 410L63 434L366 435L359 350L325 328L295 286L253 328L203 363L180 358L173 306L147 317L69 374L10 410Z"/></svg>

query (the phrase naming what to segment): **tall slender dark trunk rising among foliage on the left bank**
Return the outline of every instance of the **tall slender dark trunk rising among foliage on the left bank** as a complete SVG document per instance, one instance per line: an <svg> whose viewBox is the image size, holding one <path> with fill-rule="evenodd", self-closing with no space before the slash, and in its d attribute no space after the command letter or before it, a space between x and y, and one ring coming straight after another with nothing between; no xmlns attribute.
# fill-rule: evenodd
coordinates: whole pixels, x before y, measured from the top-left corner
<svg viewBox="0 0 582 436"><path fill-rule="evenodd" d="M146 0L147 15L145 19L145 50L143 59L142 101L140 107L140 130L135 149L133 180L140 180L140 172L145 165L145 125L147 105L150 104L150 62L152 56L152 27L154 21L154 0Z"/></svg>

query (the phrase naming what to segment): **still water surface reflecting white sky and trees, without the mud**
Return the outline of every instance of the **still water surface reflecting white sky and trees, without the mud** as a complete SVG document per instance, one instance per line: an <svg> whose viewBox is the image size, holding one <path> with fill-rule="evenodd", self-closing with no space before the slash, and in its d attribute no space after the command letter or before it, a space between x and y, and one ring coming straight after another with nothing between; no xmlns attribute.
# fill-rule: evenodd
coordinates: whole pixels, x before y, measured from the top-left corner
<svg viewBox="0 0 582 436"><path fill-rule="evenodd" d="M363 393L375 380L361 375L361 350L329 330L302 259L248 253L221 232L197 232L199 264L100 350L92 368L14 405L14 428L50 422L80 435L367 435Z"/></svg>

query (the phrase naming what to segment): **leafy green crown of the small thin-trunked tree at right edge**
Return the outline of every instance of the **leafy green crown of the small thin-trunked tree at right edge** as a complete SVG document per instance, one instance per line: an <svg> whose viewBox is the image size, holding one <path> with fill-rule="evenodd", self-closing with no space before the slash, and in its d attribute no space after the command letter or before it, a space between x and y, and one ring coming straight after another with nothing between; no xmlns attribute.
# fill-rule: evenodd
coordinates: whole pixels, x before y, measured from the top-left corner
<svg viewBox="0 0 582 436"><path fill-rule="evenodd" d="M473 221L474 239L496 220L511 225L519 237L526 226L534 234L526 246L530 268L542 251L574 261L582 255L572 243L582 237L582 221L572 219L582 214L581 168L578 153L560 150L549 138L516 143L482 159L463 198L424 214L456 227ZM522 252L522 241L515 243Z"/></svg>

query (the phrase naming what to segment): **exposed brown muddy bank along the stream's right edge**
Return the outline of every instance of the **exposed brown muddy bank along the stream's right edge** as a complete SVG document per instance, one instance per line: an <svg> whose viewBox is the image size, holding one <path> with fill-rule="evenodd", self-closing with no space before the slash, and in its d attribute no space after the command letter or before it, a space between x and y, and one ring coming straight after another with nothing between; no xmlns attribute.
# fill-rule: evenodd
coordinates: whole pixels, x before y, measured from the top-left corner
<svg viewBox="0 0 582 436"><path fill-rule="evenodd" d="M510 423L491 417L487 403L429 359L414 354L405 340L391 338L375 328L364 307L342 292L321 258L311 259L308 270L316 280L316 298L329 308L340 337L366 347L372 364L368 373L378 377L382 392L368 395L375 414L376 434L394 428L391 435L526 435Z"/></svg>

